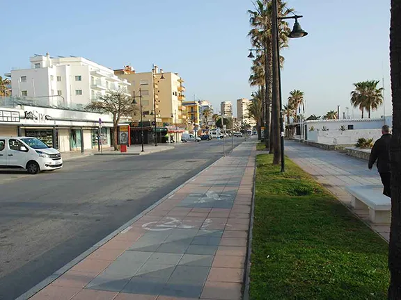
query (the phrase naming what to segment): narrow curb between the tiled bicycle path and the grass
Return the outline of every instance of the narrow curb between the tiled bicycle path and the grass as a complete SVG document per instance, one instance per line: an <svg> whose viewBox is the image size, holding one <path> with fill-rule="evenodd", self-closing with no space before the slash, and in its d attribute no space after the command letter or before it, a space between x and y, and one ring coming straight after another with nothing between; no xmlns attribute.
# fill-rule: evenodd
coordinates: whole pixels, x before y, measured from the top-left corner
<svg viewBox="0 0 401 300"><path fill-rule="evenodd" d="M256 151L256 148L255 148ZM252 188L252 202L251 202L251 215L249 217L249 236L248 244L246 245L246 259L245 259L245 272L244 272L244 294L242 299L249 300L249 285L251 282L251 253L252 253L252 239L253 239L253 216L255 214L255 178L256 178L256 157L255 167L253 169L253 188Z"/></svg>

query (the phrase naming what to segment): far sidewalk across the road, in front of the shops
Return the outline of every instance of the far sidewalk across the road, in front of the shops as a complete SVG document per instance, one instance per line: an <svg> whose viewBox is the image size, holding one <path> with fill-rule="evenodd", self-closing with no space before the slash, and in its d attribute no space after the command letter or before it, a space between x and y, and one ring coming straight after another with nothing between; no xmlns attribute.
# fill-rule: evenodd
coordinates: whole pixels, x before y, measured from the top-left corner
<svg viewBox="0 0 401 300"><path fill-rule="evenodd" d="M82 158L85 156L92 156L92 155L121 155L121 156L144 155L144 154L171 150L171 149L174 149L174 147L175 146L173 146L173 145L167 145L167 144L158 144L157 147L155 147L154 144L143 145L144 152L141 152L141 150L142 150L141 145L134 145L134 146L128 147L126 153L121 153L120 151L114 151L113 147L105 147L102 149L103 153L101 153L97 149L89 149L89 150L85 150L84 153L81 153L81 151L63 152L63 153L61 153L61 156L63 157L63 160L73 160L76 158Z"/></svg>

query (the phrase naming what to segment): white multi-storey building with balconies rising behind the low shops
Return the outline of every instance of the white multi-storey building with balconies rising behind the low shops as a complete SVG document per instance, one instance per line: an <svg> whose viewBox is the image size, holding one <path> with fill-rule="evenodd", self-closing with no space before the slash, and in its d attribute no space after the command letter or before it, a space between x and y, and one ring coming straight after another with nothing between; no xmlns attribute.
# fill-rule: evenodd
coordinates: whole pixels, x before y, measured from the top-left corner
<svg viewBox="0 0 401 300"><path fill-rule="evenodd" d="M114 75L112 69L86 58L52 58L47 53L31 57L30 62L30 69L6 74L11 77L13 96L45 99L53 107L84 107L109 90L127 93L130 85Z"/></svg>

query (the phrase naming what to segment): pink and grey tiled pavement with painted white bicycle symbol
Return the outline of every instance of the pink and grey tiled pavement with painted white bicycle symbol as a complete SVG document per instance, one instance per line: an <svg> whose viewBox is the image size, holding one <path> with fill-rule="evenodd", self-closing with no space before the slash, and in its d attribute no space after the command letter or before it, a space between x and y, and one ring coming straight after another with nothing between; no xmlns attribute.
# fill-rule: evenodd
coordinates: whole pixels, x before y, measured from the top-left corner
<svg viewBox="0 0 401 300"><path fill-rule="evenodd" d="M241 299L254 145L239 145L31 299Z"/></svg>

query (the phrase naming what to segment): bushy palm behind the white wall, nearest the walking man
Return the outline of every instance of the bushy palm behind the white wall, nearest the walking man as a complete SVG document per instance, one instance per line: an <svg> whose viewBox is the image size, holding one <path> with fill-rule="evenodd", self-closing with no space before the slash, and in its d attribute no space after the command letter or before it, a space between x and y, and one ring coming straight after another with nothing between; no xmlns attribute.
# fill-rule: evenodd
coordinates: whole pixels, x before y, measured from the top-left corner
<svg viewBox="0 0 401 300"><path fill-rule="evenodd" d="M355 89L351 92L351 104L363 113L368 111L368 117L372 110L377 110L383 103L383 88L377 88L379 81L361 81L354 83Z"/></svg>

